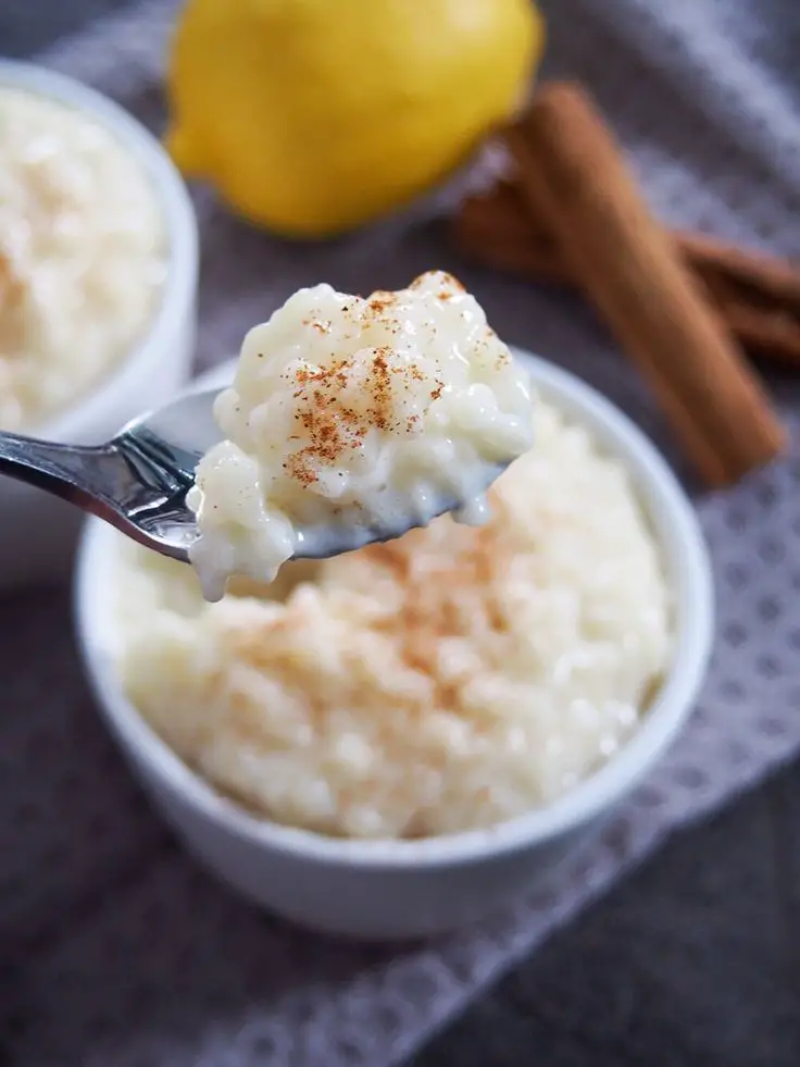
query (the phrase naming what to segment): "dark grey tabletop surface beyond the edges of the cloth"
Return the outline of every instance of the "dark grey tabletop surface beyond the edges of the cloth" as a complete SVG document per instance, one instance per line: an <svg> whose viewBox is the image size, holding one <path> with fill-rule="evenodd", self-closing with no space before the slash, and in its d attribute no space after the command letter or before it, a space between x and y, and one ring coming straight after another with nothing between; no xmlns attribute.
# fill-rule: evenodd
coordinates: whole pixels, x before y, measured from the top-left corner
<svg viewBox="0 0 800 1067"><path fill-rule="evenodd" d="M0 0L0 54L120 7ZM800 1067L800 764L677 835L413 1067L478 1064Z"/></svg>

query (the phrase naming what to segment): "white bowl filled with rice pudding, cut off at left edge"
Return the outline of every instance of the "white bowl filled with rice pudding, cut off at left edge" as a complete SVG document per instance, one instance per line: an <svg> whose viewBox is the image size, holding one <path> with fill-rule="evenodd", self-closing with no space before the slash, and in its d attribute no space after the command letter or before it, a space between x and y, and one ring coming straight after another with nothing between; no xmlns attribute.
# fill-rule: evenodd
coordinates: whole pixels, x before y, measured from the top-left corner
<svg viewBox="0 0 800 1067"><path fill-rule="evenodd" d="M198 238L184 183L111 100L0 61L0 430L108 439L188 377ZM79 517L0 479L0 586L68 560Z"/></svg>

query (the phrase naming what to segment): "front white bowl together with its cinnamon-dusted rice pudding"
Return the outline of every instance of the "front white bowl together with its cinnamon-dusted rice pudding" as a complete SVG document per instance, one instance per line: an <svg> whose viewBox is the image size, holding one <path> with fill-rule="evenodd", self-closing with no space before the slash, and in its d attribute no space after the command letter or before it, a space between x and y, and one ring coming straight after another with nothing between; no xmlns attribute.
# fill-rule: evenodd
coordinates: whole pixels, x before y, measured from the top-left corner
<svg viewBox="0 0 800 1067"><path fill-rule="evenodd" d="M518 896L697 696L713 593L691 505L612 405L518 358L536 445L485 526L446 516L216 604L86 530L77 628L123 753L210 869L312 928L415 936Z"/></svg>

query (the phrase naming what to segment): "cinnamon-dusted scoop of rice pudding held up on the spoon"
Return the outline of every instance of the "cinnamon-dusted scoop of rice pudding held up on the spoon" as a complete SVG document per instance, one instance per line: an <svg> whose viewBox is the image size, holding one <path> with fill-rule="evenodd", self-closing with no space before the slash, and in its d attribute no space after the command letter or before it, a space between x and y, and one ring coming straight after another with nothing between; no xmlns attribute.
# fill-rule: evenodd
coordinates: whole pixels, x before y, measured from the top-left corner
<svg viewBox="0 0 800 1067"><path fill-rule="evenodd" d="M530 405L524 370L448 274L365 299L299 290L248 333L214 405L225 439L187 497L204 596L445 511L482 523L487 488L533 444Z"/></svg>

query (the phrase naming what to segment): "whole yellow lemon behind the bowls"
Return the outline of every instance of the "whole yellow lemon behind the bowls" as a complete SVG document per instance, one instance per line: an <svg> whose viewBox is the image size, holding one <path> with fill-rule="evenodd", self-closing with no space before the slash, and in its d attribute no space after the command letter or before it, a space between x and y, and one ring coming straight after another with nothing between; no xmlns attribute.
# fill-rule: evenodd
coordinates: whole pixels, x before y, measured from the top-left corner
<svg viewBox="0 0 800 1067"><path fill-rule="evenodd" d="M167 147L251 221L335 234L463 161L542 41L530 0L189 0Z"/></svg>

